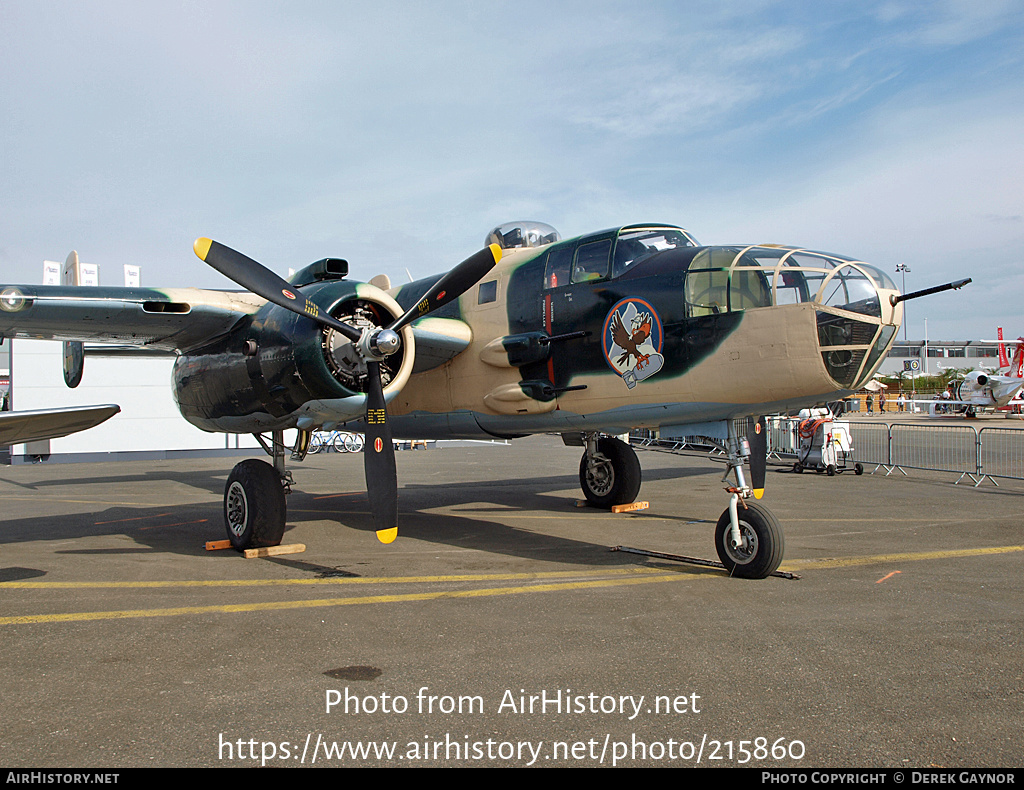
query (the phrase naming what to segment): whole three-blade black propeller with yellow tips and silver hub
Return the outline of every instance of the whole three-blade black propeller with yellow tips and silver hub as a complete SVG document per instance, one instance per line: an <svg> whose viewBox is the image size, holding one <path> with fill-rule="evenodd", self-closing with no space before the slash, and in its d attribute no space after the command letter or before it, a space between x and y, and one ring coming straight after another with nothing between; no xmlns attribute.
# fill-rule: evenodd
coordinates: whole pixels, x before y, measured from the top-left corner
<svg viewBox="0 0 1024 790"><path fill-rule="evenodd" d="M390 543L398 535L398 477L395 470L394 445L387 417L384 384L380 363L401 347L398 334L409 324L438 307L458 299L501 260L502 251L492 244L466 258L441 277L406 314L385 328L356 329L319 309L286 280L241 252L210 239L197 239L196 254L229 280L234 281L267 301L305 316L326 327L337 330L352 341L367 363L367 442L362 468L367 479L367 496L374 516L377 537Z"/></svg>

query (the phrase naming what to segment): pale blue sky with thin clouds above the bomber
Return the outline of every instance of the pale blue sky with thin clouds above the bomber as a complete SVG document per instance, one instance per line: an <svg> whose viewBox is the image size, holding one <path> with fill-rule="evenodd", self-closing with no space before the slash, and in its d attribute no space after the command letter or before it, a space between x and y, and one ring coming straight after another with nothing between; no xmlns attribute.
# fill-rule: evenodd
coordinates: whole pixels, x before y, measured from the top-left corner
<svg viewBox="0 0 1024 790"><path fill-rule="evenodd" d="M662 221L974 277L909 336L1024 334L1019 2L0 0L0 107L6 282L230 287L198 236L401 282Z"/></svg>

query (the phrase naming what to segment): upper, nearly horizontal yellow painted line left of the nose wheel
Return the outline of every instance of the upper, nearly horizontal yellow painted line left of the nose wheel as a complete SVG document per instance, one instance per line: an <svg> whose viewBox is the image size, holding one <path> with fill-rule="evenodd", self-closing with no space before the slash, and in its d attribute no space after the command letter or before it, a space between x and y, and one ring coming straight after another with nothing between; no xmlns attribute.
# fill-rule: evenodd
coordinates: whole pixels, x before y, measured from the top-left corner
<svg viewBox="0 0 1024 790"><path fill-rule="evenodd" d="M664 569L608 568L594 571L546 571L543 573L460 574L453 576L342 576L329 579L222 579L206 581L139 582L0 582L0 589L87 589L145 587L287 587L315 584L444 584L449 582L522 581L534 579L573 579L595 576L644 576L664 573Z"/></svg>

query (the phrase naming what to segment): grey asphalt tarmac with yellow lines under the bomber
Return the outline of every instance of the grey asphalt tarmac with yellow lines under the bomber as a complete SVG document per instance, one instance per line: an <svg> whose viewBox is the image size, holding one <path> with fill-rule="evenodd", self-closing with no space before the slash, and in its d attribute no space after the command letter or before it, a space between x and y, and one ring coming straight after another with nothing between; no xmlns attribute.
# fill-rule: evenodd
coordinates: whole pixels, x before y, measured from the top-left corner
<svg viewBox="0 0 1024 790"><path fill-rule="evenodd" d="M795 474L799 580L717 559L723 466L639 451L647 510L578 507L557 438L291 466L285 543L223 538L231 462L0 468L0 765L1024 764L1024 484Z"/></svg>

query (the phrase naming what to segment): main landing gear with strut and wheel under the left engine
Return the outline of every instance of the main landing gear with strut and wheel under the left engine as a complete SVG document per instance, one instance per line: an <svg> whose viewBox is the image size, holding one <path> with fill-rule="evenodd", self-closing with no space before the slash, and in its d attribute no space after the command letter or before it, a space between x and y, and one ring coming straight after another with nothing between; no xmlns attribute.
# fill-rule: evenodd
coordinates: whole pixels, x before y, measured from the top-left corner
<svg viewBox="0 0 1024 790"><path fill-rule="evenodd" d="M273 465L250 458L236 464L224 487L224 526L231 546L242 551L281 544L292 488L292 473L285 470L284 431L275 430L270 444L255 433ZM301 460L309 445L309 431L300 430L292 457Z"/></svg>

